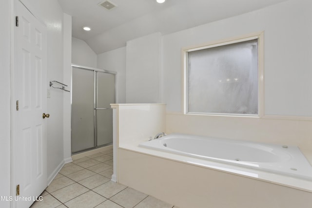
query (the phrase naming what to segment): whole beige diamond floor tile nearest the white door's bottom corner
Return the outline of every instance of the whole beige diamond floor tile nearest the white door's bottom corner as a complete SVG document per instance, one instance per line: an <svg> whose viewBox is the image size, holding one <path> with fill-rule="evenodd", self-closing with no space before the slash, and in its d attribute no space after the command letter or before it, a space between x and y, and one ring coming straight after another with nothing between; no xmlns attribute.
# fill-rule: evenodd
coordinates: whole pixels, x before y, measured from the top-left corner
<svg viewBox="0 0 312 208"><path fill-rule="evenodd" d="M54 191L51 193L55 198L57 198L62 203L65 203L85 192L87 192L89 189L81 186L78 183L69 185L63 189L59 189L57 191Z"/></svg>

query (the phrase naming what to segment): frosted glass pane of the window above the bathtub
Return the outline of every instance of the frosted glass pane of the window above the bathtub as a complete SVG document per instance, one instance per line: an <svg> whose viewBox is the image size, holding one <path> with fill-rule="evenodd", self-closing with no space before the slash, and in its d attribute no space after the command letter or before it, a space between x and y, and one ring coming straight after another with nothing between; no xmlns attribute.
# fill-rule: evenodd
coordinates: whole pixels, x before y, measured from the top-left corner
<svg viewBox="0 0 312 208"><path fill-rule="evenodd" d="M188 52L188 113L258 114L258 40Z"/></svg>

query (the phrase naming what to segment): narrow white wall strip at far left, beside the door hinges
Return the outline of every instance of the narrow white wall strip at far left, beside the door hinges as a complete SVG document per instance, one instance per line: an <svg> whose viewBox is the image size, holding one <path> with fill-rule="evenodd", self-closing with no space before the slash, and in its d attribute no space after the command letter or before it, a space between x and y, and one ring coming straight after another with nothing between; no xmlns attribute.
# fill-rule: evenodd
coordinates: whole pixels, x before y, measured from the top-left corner
<svg viewBox="0 0 312 208"><path fill-rule="evenodd" d="M0 1L0 196L10 196L10 0ZM1 208L10 202L0 201Z"/></svg>

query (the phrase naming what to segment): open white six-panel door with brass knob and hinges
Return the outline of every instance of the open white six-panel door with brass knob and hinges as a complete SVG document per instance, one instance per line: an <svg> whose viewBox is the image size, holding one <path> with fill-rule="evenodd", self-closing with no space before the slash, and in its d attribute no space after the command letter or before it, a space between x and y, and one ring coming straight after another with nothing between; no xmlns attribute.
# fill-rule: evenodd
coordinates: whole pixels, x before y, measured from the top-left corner
<svg viewBox="0 0 312 208"><path fill-rule="evenodd" d="M20 185L17 208L28 208L47 187L46 151L46 27L19 1L15 27L14 183Z"/></svg>

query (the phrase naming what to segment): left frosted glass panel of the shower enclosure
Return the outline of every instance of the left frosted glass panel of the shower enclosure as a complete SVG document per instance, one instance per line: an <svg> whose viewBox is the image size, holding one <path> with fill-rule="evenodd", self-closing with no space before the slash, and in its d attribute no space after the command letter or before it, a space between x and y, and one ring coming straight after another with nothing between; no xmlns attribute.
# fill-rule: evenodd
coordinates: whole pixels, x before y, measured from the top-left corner
<svg viewBox="0 0 312 208"><path fill-rule="evenodd" d="M72 152L94 147L94 72L73 69Z"/></svg>

